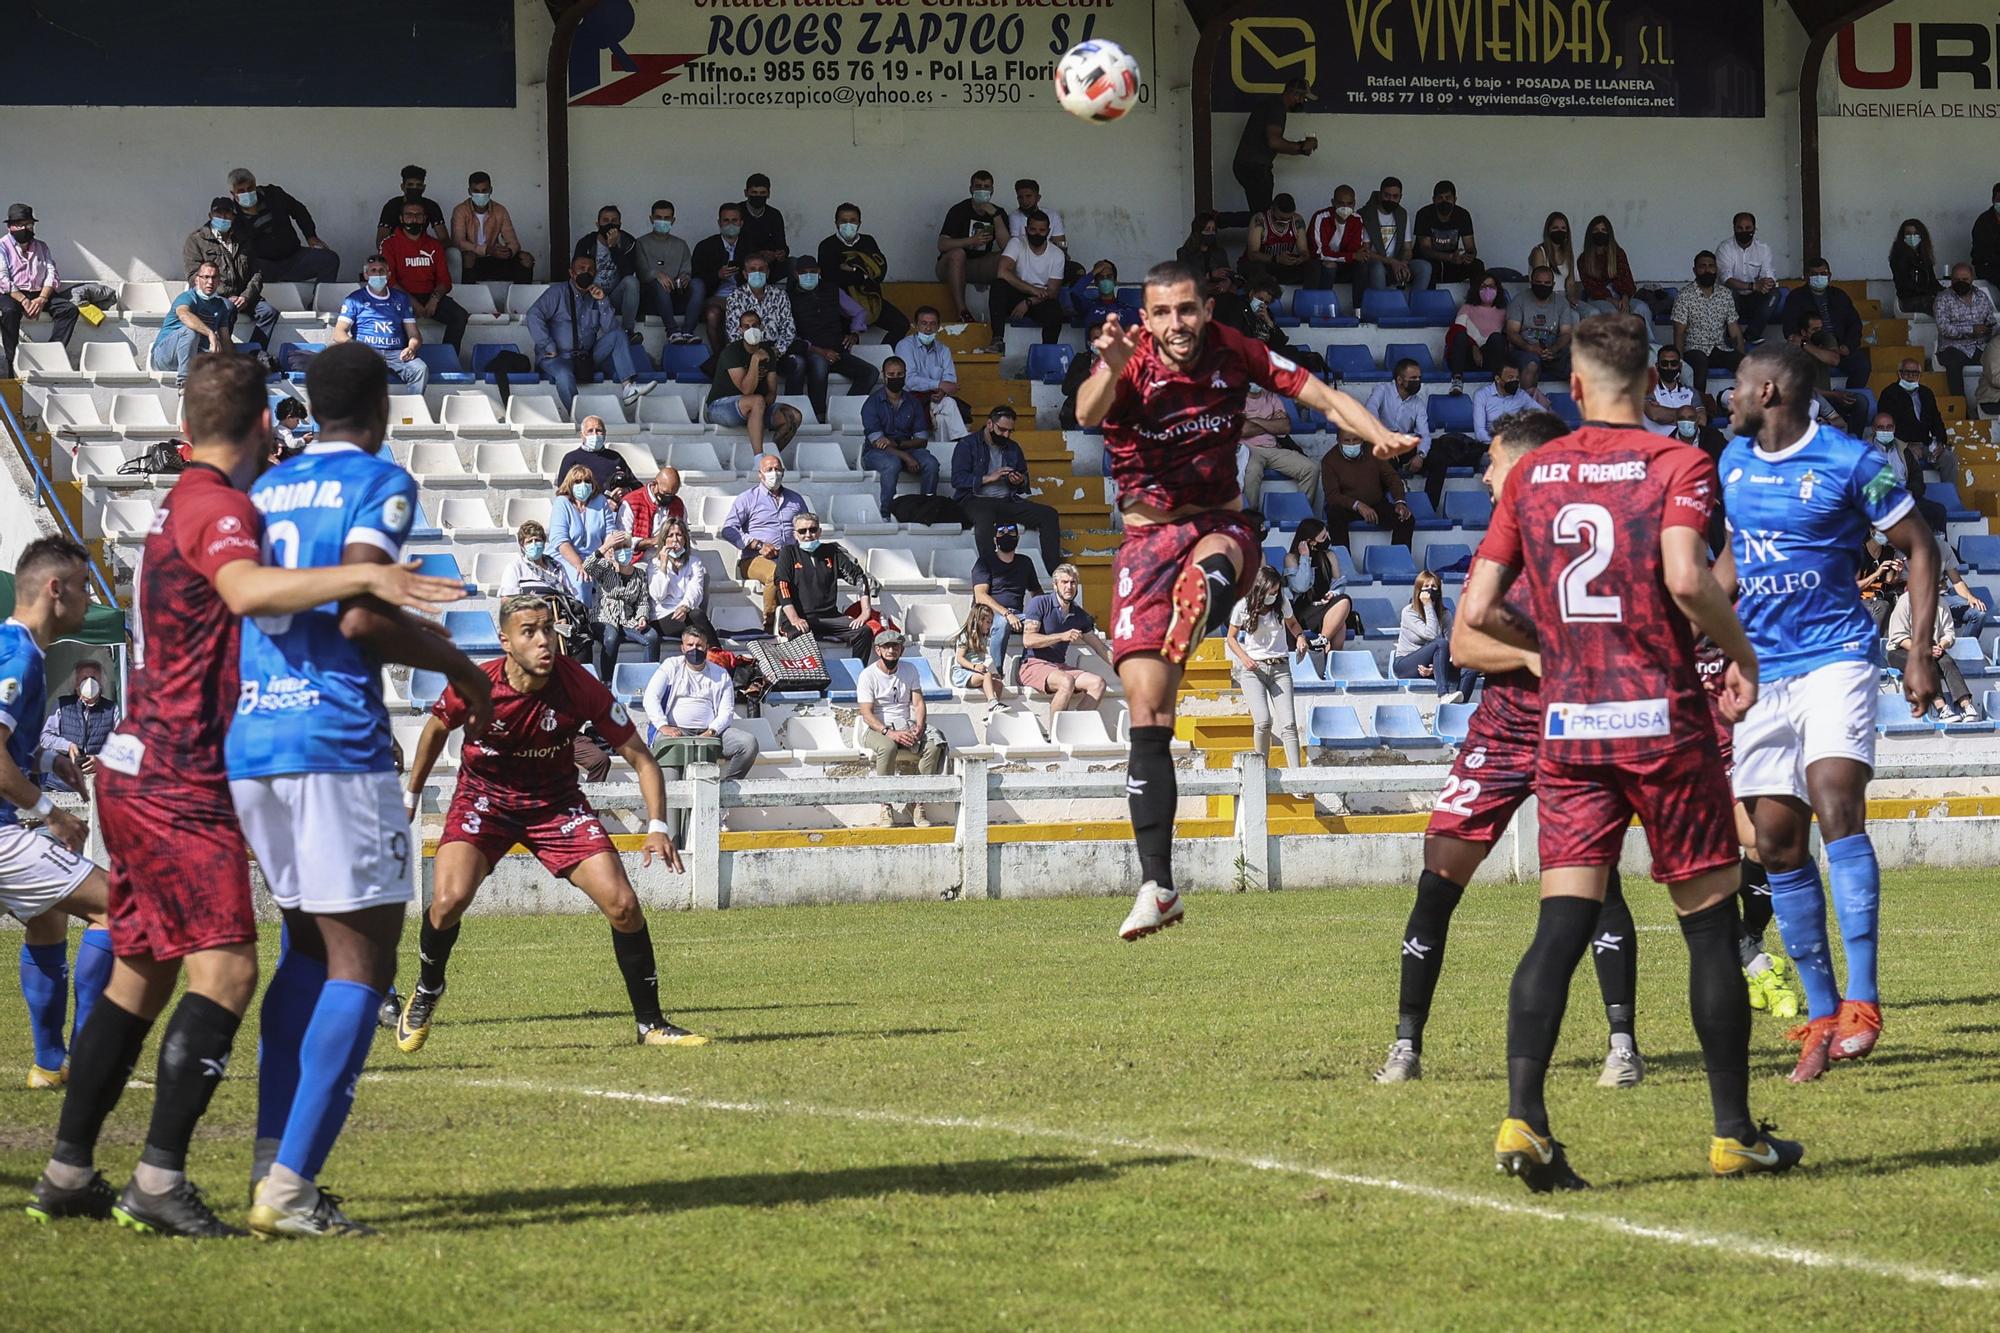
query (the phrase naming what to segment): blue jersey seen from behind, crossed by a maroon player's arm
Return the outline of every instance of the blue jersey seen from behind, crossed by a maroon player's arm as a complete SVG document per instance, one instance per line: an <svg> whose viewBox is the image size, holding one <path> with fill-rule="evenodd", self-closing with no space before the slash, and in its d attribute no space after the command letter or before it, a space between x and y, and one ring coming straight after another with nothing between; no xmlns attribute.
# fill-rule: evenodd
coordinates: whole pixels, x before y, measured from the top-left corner
<svg viewBox="0 0 2000 1333"><path fill-rule="evenodd" d="M312 444L250 486L264 514L264 562L340 564L352 542L402 558L416 482L354 444ZM242 695L224 757L232 779L286 773L388 773L382 666L340 632L340 606L252 616L242 634Z"/></svg>

